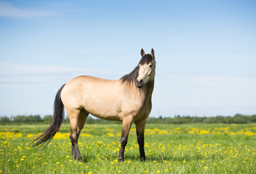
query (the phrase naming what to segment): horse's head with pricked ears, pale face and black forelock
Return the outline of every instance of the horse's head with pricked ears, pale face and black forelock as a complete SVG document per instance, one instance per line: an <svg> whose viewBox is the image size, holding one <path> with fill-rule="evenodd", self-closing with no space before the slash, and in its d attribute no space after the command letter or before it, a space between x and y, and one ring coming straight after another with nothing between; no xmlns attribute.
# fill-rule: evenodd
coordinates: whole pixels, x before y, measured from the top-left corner
<svg viewBox="0 0 256 174"><path fill-rule="evenodd" d="M135 81L138 88L142 88L145 84L153 81L156 73L156 60L153 49L151 49L151 54L145 54L144 50L141 49L140 54L142 56L138 65L140 70Z"/></svg>

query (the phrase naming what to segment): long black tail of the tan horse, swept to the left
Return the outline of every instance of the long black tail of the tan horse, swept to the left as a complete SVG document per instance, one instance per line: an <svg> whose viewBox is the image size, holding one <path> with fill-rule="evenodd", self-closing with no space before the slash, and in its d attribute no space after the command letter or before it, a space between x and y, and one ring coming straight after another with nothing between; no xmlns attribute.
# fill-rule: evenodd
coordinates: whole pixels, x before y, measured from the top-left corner
<svg viewBox="0 0 256 174"><path fill-rule="evenodd" d="M37 136L32 141L34 143L33 146L38 146L39 144L45 144L45 146L47 146L47 144L52 141L52 138L55 136L55 133L57 133L57 130L60 129L60 125L63 123L64 120L64 105L63 101L61 101L60 99L60 94L64 86L65 84L61 86L55 96L54 114L52 117L51 125L49 125L49 128L47 128L44 133L41 133L41 135Z"/></svg>

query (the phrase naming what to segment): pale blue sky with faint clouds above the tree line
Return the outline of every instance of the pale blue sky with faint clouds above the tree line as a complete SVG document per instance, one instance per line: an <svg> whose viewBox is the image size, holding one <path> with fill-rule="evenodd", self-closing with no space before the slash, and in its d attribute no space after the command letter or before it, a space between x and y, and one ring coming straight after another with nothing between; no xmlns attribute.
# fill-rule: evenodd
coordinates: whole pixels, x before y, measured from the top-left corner
<svg viewBox="0 0 256 174"><path fill-rule="evenodd" d="M0 116L51 115L78 75L156 56L151 117L256 114L256 1L1 1Z"/></svg>

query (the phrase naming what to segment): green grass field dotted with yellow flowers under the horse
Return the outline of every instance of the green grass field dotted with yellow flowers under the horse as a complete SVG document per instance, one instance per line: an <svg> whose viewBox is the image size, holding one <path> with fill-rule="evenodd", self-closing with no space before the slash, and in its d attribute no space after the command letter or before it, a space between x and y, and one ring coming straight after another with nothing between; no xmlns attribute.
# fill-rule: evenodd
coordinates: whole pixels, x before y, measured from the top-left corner
<svg viewBox="0 0 256 174"><path fill-rule="evenodd" d="M146 125L140 162L135 126L124 162L117 160L121 125L86 125L79 137L84 162L72 158L64 124L45 149L33 136L48 125L1 125L0 173L256 173L256 124Z"/></svg>

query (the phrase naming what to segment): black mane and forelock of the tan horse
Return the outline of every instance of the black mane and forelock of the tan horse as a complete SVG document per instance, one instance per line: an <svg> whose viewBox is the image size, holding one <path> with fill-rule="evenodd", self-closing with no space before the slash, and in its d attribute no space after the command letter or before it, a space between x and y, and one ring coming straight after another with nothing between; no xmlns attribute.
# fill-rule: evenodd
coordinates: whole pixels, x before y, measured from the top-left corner
<svg viewBox="0 0 256 174"><path fill-rule="evenodd" d="M150 62L152 62L152 60L153 60L153 57L151 56L151 54L146 54L144 57L142 57L140 59L139 65L149 64ZM124 82L129 82L129 83L135 82L135 80L139 76L139 70L140 70L139 65L137 65L137 67L135 67L135 69L132 70L132 72L130 72L129 74L124 75L123 77L120 78L122 83L124 83Z"/></svg>

